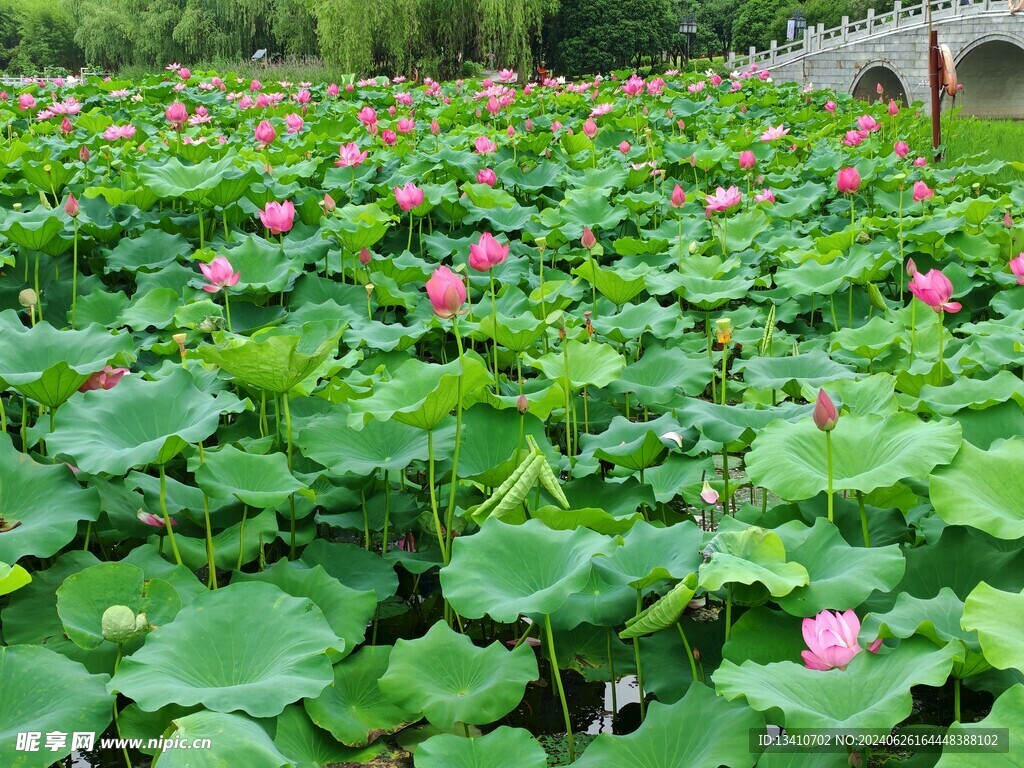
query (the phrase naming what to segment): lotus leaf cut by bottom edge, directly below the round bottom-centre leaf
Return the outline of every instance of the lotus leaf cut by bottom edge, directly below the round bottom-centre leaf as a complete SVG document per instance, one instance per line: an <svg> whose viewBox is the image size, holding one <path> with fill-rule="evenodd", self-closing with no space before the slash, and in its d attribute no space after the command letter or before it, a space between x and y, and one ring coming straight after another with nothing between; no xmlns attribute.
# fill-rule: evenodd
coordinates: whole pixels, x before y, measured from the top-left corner
<svg viewBox="0 0 1024 768"><path fill-rule="evenodd" d="M547 755L522 728L503 725L482 736L431 736L416 750L416 768L546 768Z"/></svg>

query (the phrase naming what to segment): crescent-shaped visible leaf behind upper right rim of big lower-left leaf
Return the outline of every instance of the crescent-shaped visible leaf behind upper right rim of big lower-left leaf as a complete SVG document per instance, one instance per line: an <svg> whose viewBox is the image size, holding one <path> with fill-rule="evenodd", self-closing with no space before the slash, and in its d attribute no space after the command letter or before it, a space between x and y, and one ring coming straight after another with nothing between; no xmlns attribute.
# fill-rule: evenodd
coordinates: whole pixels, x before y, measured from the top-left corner
<svg viewBox="0 0 1024 768"><path fill-rule="evenodd" d="M362 642L377 610L377 593L346 587L323 566L308 567L301 560L279 560L255 573L236 571L231 583L240 582L267 582L292 597L312 600L334 634L345 641L342 657Z"/></svg>

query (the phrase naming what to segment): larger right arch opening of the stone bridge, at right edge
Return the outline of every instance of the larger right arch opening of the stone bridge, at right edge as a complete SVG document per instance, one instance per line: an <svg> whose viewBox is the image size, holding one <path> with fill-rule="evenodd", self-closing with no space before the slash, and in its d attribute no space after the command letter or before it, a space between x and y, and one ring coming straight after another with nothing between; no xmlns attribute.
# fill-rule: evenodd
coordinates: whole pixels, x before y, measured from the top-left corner
<svg viewBox="0 0 1024 768"><path fill-rule="evenodd" d="M1010 35L980 38L961 51L956 97L962 115L979 118L1024 117L1024 40Z"/></svg>

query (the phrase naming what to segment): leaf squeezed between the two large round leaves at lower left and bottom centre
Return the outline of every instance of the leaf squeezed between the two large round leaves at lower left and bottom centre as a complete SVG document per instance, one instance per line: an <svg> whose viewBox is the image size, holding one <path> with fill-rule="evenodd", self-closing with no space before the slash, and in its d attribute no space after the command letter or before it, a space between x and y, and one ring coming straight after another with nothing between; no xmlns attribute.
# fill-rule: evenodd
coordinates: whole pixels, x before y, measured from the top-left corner
<svg viewBox="0 0 1024 768"><path fill-rule="evenodd" d="M390 645L365 645L334 667L334 684L303 703L309 718L346 746L366 746L420 719L381 692Z"/></svg>

